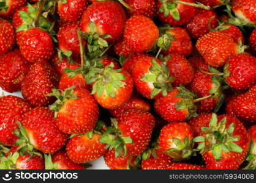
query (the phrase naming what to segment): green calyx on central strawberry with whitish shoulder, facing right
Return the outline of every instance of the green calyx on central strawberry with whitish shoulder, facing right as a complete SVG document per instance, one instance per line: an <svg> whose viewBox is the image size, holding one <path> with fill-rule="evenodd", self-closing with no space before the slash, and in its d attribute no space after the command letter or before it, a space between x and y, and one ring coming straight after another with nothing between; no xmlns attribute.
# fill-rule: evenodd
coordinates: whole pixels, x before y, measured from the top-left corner
<svg viewBox="0 0 256 183"><path fill-rule="evenodd" d="M152 66L149 68L149 71L150 73L145 74L141 81L153 83L154 89L151 92L151 98L154 98L159 93L167 96L168 91L173 89L171 86L173 77L170 76L168 67L165 63L160 65L156 59L152 59Z"/></svg>

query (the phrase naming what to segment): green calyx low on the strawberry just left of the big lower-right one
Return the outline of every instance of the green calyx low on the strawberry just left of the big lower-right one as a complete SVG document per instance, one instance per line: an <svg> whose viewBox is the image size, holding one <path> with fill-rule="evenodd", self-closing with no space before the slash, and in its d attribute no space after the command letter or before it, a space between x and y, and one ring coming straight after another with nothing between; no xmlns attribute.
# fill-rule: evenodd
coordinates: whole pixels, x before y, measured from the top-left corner
<svg viewBox="0 0 256 183"><path fill-rule="evenodd" d="M175 143L175 148L168 149L165 153L173 157L175 161L181 161L184 159L189 159L193 154L193 139L189 140L187 137L184 138L184 141L179 140L178 138L173 138L173 143Z"/></svg>

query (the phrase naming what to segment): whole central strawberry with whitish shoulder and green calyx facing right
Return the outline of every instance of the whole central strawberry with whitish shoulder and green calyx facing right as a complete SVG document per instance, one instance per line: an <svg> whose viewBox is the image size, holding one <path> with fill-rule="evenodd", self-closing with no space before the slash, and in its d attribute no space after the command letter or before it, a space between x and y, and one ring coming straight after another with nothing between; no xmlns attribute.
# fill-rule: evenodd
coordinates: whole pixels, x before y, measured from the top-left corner
<svg viewBox="0 0 256 183"><path fill-rule="evenodd" d="M168 67L146 54L138 56L137 59L139 60L134 65L132 77L138 93L148 99L166 96L173 81L169 76Z"/></svg>

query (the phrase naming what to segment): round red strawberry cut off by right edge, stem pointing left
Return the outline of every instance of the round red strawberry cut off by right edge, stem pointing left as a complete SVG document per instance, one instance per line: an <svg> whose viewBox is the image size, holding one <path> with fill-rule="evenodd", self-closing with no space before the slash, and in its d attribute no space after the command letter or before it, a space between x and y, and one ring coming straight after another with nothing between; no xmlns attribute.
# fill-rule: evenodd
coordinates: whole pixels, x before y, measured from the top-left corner
<svg viewBox="0 0 256 183"><path fill-rule="evenodd" d="M230 87L246 90L256 85L256 58L250 54L232 56L224 67L224 77Z"/></svg>

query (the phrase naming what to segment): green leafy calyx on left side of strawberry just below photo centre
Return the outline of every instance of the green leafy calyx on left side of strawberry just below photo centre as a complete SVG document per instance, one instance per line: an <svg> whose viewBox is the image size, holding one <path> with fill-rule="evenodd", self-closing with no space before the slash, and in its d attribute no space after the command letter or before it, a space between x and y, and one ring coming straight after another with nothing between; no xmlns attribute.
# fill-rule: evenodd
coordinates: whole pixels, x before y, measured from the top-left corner
<svg viewBox="0 0 256 183"><path fill-rule="evenodd" d="M126 144L132 143L132 138L122 136L118 129L118 121L115 118L111 118L111 124L99 141L107 144L106 148L110 151L115 149L115 157L127 156Z"/></svg>

